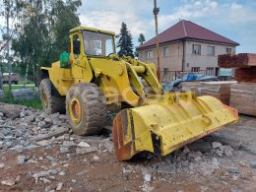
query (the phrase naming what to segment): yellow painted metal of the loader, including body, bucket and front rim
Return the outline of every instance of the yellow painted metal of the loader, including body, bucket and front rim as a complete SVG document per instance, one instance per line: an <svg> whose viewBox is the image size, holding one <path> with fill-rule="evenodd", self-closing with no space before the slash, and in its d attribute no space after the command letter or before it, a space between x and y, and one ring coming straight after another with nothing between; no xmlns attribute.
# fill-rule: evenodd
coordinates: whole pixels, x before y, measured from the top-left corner
<svg viewBox="0 0 256 192"><path fill-rule="evenodd" d="M82 31L102 32L78 27L70 31L71 54L69 69L60 62L47 71L60 96L80 82L94 82L106 97L106 103L126 102L134 108L117 114L113 125L113 141L118 160L128 160L142 151L164 156L174 150L210 134L238 119L237 111L211 96L196 97L192 93L163 93L157 78L156 66L131 57L116 54L87 56ZM73 50L73 39L81 42L81 53ZM145 80L153 91L149 94L142 84ZM83 117L82 104L74 98L69 105L72 121Z"/></svg>

